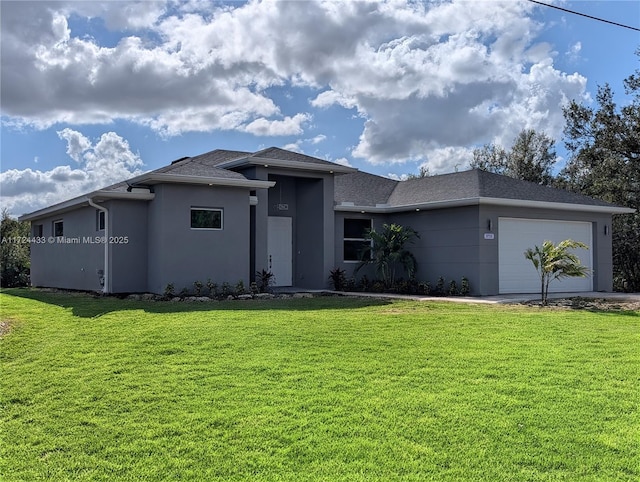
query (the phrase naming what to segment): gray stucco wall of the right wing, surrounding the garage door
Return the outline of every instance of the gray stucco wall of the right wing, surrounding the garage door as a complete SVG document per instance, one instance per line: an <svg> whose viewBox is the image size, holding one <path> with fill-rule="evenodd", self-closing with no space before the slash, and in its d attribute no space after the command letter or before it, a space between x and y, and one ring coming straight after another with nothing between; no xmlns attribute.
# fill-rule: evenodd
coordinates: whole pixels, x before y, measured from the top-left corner
<svg viewBox="0 0 640 482"><path fill-rule="evenodd" d="M500 217L591 222L593 246L590 249L593 255L594 290L611 291L613 289L611 215L575 211L482 205L386 215L336 212L335 266L345 269L347 276L351 276L357 266L357 263L343 261L345 218L373 219L376 229L379 229L383 223L395 222L411 226L420 235L420 239L409 246L418 262L416 273L418 280L429 281L432 286L435 286L438 278L443 276L447 283L455 280L460 285L460 280L464 276L469 280L471 294L496 295L499 290L498 218ZM489 220L492 221L491 231L488 229ZM604 234L605 225L609 230L607 235ZM485 239L484 234L487 232L492 233L494 239ZM541 236L544 237L543 234ZM543 240L541 239L540 242ZM369 267L360 270L358 277L363 274L370 278L375 276Z"/></svg>

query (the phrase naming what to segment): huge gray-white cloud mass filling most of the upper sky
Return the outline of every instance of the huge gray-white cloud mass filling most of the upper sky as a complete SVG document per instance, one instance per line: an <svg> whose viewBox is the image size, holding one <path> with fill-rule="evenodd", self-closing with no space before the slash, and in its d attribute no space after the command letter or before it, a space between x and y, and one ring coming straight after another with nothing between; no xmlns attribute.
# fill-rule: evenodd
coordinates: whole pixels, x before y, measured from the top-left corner
<svg viewBox="0 0 640 482"><path fill-rule="evenodd" d="M536 41L530 2L56 5L2 4L8 124L127 119L164 136L300 135L311 114L283 115L267 89L303 86L319 92L305 107L355 109L364 119L355 157L429 159L437 172L454 161L438 160L447 148L523 128L559 135L561 105L586 89ZM124 36L110 46L81 38L71 14L100 16Z"/></svg>

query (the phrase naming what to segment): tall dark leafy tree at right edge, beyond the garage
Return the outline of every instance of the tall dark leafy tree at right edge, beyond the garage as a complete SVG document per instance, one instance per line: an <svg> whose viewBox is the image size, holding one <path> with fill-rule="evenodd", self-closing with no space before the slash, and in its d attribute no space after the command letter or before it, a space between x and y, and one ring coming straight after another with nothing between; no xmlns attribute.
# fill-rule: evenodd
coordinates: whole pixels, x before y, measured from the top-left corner
<svg viewBox="0 0 640 482"><path fill-rule="evenodd" d="M636 209L613 218L613 271L616 289L640 291L640 71L624 86L631 101L622 108L605 84L596 108L573 101L564 109L570 158L558 184Z"/></svg>

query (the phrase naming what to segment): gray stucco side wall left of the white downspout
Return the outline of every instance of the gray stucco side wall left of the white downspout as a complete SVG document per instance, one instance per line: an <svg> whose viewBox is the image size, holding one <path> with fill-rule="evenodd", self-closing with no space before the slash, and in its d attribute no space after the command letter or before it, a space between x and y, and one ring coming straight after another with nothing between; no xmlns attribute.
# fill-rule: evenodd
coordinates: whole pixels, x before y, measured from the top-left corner
<svg viewBox="0 0 640 482"><path fill-rule="evenodd" d="M34 226L41 224L43 236L50 238L57 220L64 225L61 239L31 245L32 286L101 290L97 271L104 266L104 245L88 242L103 235L96 230L96 209L85 207L32 221L32 233Z"/></svg>

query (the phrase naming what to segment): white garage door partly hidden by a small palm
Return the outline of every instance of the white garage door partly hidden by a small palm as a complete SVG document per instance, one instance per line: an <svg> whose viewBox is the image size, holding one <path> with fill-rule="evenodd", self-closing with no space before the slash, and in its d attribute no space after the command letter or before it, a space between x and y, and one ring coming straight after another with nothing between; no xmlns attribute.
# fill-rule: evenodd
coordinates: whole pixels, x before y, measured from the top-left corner
<svg viewBox="0 0 640 482"><path fill-rule="evenodd" d="M531 261L524 257L527 248L573 239L589 246L575 254L589 269L592 264L591 223L540 219L500 218L498 220L498 267L500 293L539 293L540 278ZM591 291L592 277L554 280L549 292Z"/></svg>

